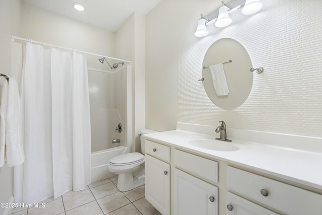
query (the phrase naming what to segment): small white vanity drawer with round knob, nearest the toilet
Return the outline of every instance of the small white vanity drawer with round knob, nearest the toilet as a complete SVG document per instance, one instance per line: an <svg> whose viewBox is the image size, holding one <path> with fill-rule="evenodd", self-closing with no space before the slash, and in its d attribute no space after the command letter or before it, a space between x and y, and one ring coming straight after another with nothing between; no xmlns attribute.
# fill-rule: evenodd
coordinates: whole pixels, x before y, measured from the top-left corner
<svg viewBox="0 0 322 215"><path fill-rule="evenodd" d="M156 142L147 139L145 140L145 153L166 162L170 162L170 147L157 144Z"/></svg>

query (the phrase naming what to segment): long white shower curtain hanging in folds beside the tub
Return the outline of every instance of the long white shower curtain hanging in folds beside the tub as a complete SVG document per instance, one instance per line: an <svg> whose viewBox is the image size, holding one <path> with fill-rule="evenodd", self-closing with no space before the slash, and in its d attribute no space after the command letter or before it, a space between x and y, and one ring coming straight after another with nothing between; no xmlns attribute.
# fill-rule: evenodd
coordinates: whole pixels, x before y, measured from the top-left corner
<svg viewBox="0 0 322 215"><path fill-rule="evenodd" d="M83 54L27 42L21 79L25 163L15 202L34 203L90 183L90 106Z"/></svg>

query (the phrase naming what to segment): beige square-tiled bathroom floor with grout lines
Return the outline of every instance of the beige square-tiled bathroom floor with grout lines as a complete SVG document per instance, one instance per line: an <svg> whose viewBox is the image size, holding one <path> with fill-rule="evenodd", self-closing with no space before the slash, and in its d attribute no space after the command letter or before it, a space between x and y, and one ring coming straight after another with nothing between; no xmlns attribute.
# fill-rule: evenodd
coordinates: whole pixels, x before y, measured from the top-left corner
<svg viewBox="0 0 322 215"><path fill-rule="evenodd" d="M127 192L116 188L117 176L45 199L45 207L14 208L13 215L161 215L144 198L144 185ZM41 203L42 203L41 202Z"/></svg>

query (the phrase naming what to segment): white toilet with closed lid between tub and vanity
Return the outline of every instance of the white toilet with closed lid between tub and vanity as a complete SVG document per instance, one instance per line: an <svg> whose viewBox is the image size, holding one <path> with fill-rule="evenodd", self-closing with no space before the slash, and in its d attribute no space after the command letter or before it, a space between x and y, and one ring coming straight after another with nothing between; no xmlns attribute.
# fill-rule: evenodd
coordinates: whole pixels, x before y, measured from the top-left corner
<svg viewBox="0 0 322 215"><path fill-rule="evenodd" d="M154 130L141 130L140 135L155 133ZM119 175L117 189L128 191L144 184L144 139L141 137L142 154L133 152L116 156L110 160L109 170Z"/></svg>

